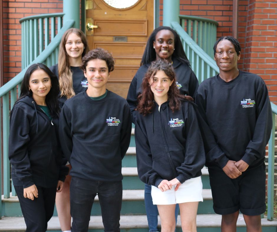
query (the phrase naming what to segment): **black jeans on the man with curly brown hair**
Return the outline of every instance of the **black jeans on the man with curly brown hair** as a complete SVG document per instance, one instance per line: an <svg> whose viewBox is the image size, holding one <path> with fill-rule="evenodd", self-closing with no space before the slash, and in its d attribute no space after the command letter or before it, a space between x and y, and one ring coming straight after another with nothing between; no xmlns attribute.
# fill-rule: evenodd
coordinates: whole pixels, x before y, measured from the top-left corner
<svg viewBox="0 0 277 232"><path fill-rule="evenodd" d="M87 232L94 198L98 194L105 232L118 232L122 204L122 181L103 182L72 176L70 214L72 232Z"/></svg>

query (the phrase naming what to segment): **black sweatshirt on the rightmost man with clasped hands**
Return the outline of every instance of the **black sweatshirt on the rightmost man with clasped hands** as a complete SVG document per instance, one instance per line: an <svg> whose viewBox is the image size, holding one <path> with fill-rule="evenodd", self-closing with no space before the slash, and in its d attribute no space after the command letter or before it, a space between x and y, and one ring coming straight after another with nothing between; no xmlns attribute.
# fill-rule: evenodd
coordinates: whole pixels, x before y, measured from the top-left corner
<svg viewBox="0 0 277 232"><path fill-rule="evenodd" d="M202 134L208 167L223 168L228 160L242 159L249 168L264 162L272 112L261 77L243 71L230 82L211 77L200 84L195 101L208 125Z"/></svg>

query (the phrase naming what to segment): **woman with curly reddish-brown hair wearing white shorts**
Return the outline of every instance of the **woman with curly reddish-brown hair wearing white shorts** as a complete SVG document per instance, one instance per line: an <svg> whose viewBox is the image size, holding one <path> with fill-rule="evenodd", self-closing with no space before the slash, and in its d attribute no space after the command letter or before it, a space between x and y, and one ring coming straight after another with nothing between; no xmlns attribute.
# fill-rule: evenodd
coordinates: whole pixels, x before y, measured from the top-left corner
<svg viewBox="0 0 277 232"><path fill-rule="evenodd" d="M142 81L136 110L139 178L151 185L161 231L174 231L179 203L183 231L196 232L205 152L192 97L179 94L172 64L152 62Z"/></svg>

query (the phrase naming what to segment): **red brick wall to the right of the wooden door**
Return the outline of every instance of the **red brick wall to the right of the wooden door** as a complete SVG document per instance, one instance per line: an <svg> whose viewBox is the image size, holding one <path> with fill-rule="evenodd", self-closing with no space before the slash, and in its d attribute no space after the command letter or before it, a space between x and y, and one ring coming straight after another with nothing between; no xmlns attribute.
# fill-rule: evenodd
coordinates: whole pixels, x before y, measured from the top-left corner
<svg viewBox="0 0 277 232"><path fill-rule="evenodd" d="M162 25L162 0L160 0ZM180 0L180 14L216 20L217 38L232 35L232 0ZM277 102L277 3L276 0L238 1L239 69L260 75L271 101Z"/></svg>

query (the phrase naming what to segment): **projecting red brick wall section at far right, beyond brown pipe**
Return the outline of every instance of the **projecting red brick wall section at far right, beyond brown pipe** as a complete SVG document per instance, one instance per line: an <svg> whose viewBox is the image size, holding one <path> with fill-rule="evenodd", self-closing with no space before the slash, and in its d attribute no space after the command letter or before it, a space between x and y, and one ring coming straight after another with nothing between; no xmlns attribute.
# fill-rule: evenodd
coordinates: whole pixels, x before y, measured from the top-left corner
<svg viewBox="0 0 277 232"><path fill-rule="evenodd" d="M243 69L260 75L277 102L277 2L248 2Z"/></svg>

